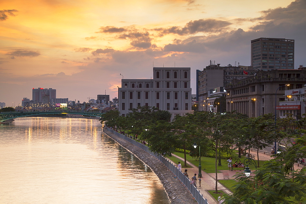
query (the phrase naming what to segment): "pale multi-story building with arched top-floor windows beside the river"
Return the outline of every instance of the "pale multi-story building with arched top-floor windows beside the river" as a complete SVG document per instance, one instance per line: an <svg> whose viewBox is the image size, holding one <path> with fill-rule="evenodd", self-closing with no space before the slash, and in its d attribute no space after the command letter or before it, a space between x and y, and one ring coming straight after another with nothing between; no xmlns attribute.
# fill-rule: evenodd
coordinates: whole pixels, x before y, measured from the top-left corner
<svg viewBox="0 0 306 204"><path fill-rule="evenodd" d="M138 106L167 110L171 120L190 113L190 67L153 67L153 79L122 79L118 99L121 115Z"/></svg>

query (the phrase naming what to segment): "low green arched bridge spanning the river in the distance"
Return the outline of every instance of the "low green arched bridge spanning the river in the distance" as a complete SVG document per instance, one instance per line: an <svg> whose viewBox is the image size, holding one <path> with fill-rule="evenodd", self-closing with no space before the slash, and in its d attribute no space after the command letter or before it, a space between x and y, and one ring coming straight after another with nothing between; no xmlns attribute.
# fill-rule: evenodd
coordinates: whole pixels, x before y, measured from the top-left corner
<svg viewBox="0 0 306 204"><path fill-rule="evenodd" d="M73 115L87 115L92 117L101 117L104 113L99 113L96 111L87 112L87 111L72 111L72 110L60 110L60 111L37 111L37 112L28 112L28 111L14 111L14 112L2 112L0 113L0 122L6 122L14 118L20 118L25 116L34 116L34 115L49 115L49 114L73 114Z"/></svg>

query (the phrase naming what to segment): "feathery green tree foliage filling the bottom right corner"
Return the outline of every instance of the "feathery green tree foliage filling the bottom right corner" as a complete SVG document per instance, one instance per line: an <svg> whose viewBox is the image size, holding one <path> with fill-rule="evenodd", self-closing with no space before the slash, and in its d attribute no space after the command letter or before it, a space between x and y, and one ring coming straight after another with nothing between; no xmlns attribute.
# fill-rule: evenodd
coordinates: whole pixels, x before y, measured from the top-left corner
<svg viewBox="0 0 306 204"><path fill-rule="evenodd" d="M294 202L305 202L306 169L287 174L282 167L281 162L272 159L257 169L255 176L237 175L233 194L224 194L224 203L290 203L293 199Z"/></svg>

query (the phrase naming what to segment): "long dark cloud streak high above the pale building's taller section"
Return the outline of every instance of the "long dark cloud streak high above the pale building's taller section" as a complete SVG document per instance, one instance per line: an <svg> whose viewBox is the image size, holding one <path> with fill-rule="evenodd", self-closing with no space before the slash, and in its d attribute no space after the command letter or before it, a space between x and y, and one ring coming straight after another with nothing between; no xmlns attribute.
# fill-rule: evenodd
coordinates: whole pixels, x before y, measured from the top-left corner
<svg viewBox="0 0 306 204"><path fill-rule="evenodd" d="M215 19L200 19L189 21L184 27L173 26L167 29L157 28L155 30L162 30L162 34L178 34L178 35L188 35L195 34L198 32L221 32L225 27L231 25L232 23L223 20Z"/></svg>

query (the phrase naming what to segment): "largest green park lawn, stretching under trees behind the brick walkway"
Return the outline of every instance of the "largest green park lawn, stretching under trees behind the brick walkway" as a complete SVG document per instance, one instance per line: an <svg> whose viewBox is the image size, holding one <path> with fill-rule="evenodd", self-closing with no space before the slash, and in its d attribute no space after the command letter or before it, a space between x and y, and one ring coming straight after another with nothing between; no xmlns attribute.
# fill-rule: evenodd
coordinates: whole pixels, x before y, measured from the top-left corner
<svg viewBox="0 0 306 204"><path fill-rule="evenodd" d="M181 158L184 158L184 153L181 153L181 152L174 152L173 154L181 157ZM171 160L173 160L172 158L174 158L173 156L170 157ZM240 161L243 162L243 160L245 159L246 157L244 156L241 156L240 158ZM195 160L194 158L192 158L190 155L186 155L186 159L191 162L193 165L195 166L199 166L199 161L198 160ZM229 168L227 167L227 159L221 159L221 164L222 166L217 166L217 170L218 170L218 173L219 170L228 170ZM174 161L174 160L173 160ZM233 162L235 162L236 160L233 159ZM239 160L238 160L239 161ZM177 161L179 162L179 161ZM183 163L182 163L183 162ZM260 161L259 160L259 165L262 166L264 163L264 161ZM184 161L181 161L181 164L184 165ZM217 165L218 165L218 161L217 161ZM202 170L206 173L215 173L215 158L212 158L212 157L201 157L201 166L202 166ZM257 161L256 161L256 166L257 166ZM249 166L250 169L253 171L255 170L255 166L254 165L250 165ZM234 168L235 169L235 168ZM242 168L239 168L239 169L242 169Z"/></svg>

